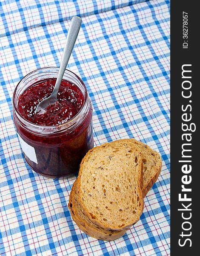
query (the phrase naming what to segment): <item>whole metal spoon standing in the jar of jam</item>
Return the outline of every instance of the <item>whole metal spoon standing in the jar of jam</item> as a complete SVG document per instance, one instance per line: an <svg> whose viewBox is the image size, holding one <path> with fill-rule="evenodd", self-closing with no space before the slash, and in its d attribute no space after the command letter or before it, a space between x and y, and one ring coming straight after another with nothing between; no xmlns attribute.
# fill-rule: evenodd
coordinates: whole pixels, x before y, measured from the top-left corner
<svg viewBox="0 0 200 256"><path fill-rule="evenodd" d="M67 38L66 38L66 43L65 43L65 48L63 51L63 57L61 60L61 64L60 64L60 69L58 72L58 76L57 76L57 80L56 80L56 84L54 87L53 92L51 93L51 95L46 98L43 99L39 105L37 106L35 113L37 113L38 111L44 110L46 107L48 107L51 104L54 104L57 101L57 93L58 90L60 88L60 83L63 79L63 75L65 73L71 52L74 48L74 44L75 41L77 39L78 36L78 32L80 29L80 25L81 25L82 19L80 17L74 16L71 20L71 24L69 27L69 31L67 33Z"/></svg>

